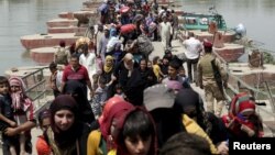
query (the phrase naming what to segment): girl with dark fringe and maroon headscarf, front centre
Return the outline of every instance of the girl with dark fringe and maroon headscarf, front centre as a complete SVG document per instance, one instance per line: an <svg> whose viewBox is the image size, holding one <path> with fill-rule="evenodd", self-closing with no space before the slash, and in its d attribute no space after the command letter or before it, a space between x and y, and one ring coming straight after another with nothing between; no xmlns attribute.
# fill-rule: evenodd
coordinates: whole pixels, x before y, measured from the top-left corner
<svg viewBox="0 0 275 155"><path fill-rule="evenodd" d="M154 120L143 108L134 108L121 117L114 124L112 136L118 145L117 155L157 154Z"/></svg>

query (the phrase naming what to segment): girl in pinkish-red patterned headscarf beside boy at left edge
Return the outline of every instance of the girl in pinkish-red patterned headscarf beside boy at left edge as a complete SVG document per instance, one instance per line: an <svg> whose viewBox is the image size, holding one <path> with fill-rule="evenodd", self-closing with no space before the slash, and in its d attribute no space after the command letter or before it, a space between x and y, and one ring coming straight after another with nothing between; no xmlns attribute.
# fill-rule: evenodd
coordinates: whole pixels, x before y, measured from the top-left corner
<svg viewBox="0 0 275 155"><path fill-rule="evenodd" d="M11 77L9 79L11 87L11 99L12 99L12 108L14 111L14 120L18 125L21 125L28 121L26 110L31 108L32 101L25 95L25 86L21 78ZM25 133L20 133L19 137L20 142L20 155L25 154Z"/></svg>

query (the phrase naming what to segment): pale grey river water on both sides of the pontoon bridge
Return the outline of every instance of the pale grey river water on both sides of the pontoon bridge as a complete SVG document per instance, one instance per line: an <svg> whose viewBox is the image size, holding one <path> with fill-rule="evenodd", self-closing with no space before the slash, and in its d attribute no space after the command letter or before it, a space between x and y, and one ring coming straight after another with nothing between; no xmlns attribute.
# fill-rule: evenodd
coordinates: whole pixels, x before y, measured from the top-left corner
<svg viewBox="0 0 275 155"><path fill-rule="evenodd" d="M63 11L78 11L85 0L0 0L0 73L35 65L20 36L46 33L47 20ZM275 51L275 0L177 0L187 12L207 12L215 5L229 27L243 23L248 36Z"/></svg>

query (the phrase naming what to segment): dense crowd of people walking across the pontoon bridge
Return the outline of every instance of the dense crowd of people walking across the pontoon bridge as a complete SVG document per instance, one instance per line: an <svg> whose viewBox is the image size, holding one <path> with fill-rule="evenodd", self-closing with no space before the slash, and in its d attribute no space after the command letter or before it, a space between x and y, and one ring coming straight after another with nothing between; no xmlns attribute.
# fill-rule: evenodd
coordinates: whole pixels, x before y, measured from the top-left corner
<svg viewBox="0 0 275 155"><path fill-rule="evenodd" d="M48 66L55 99L37 117L24 82L0 77L4 155L32 153L36 120L43 131L35 144L38 155L227 155L231 137L263 136L249 93L235 95L221 115L224 98L216 74L224 84L227 76L210 42L194 34L184 42L185 74L185 60L170 51L178 25L173 10L158 9L156 0L108 0L99 11L90 35L69 49L61 42ZM150 59L153 49L144 47L151 44L142 46L140 36L161 41L163 57ZM193 82L205 89L206 106Z"/></svg>

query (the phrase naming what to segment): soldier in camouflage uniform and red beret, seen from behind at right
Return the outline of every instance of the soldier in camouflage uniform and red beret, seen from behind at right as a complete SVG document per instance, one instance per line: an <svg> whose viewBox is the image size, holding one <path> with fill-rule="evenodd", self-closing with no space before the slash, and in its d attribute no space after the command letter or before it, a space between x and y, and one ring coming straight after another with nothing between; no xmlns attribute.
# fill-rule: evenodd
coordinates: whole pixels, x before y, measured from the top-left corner
<svg viewBox="0 0 275 155"><path fill-rule="evenodd" d="M220 80L227 84L227 74L221 63L212 55L212 43L204 42L205 55L198 62L198 82L201 89L205 89L207 111L213 112L220 117L224 106L224 95L222 84L217 82L215 74L220 74ZM216 65L212 67L211 62ZM217 69L217 70L216 70ZM219 84L219 85L218 85ZM217 108L215 110L215 99L217 100Z"/></svg>

